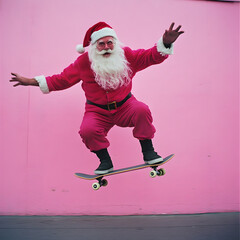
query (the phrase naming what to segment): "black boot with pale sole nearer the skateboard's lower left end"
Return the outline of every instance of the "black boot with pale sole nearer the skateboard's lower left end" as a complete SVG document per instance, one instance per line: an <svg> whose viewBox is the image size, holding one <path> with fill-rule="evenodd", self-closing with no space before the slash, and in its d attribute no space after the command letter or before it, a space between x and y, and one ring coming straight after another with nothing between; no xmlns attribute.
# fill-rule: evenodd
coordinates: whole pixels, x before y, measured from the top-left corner
<svg viewBox="0 0 240 240"><path fill-rule="evenodd" d="M94 151L94 153L96 153L101 162L98 168L94 171L95 174L106 174L113 171L112 160L106 148Z"/></svg>

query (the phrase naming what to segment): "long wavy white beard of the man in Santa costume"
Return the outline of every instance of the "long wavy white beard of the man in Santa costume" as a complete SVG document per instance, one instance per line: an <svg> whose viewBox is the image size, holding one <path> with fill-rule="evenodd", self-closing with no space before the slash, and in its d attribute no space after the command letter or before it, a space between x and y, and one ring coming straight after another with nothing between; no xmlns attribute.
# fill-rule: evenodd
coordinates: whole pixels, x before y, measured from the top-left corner
<svg viewBox="0 0 240 240"><path fill-rule="evenodd" d="M103 54L110 52L110 56ZM91 45L89 50L91 68L95 73L95 81L105 90L115 90L123 85L128 85L131 81L131 70L125 58L124 50L116 40L114 49L99 52L96 44Z"/></svg>

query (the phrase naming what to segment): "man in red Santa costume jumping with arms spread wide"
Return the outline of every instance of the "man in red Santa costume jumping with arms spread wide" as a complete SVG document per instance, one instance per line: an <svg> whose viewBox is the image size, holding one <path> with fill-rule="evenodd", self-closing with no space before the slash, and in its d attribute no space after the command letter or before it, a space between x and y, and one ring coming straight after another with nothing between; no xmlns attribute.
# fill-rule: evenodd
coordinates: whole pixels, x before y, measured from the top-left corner
<svg viewBox="0 0 240 240"><path fill-rule="evenodd" d="M111 26L99 22L88 29L83 44L77 46L82 55L62 73L34 78L12 73L10 82L15 82L14 87L39 86L43 93L82 83L86 104L79 134L100 160L95 174L113 170L107 134L115 125L133 128L133 136L139 140L147 164L161 162L163 159L152 143L156 130L149 107L138 101L131 90L138 71L163 62L173 53L173 42L183 33L181 26L173 27L174 23L152 48L132 50L122 46ZM88 46L90 49L85 52Z"/></svg>

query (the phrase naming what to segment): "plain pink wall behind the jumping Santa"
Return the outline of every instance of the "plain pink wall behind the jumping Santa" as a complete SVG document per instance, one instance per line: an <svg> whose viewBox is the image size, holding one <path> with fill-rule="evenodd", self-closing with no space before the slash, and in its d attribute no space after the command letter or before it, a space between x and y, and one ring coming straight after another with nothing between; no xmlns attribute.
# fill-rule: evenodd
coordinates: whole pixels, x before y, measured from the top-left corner
<svg viewBox="0 0 240 240"><path fill-rule="evenodd" d="M172 21L185 34L165 63L139 73L134 94L153 113L155 148L175 158L91 189L74 172L98 161L78 136L80 85L43 95L10 72L59 73L88 27L104 20L132 48L151 47ZM239 211L239 4L174 0L0 2L0 214L162 214ZM115 168L142 162L131 129L113 128ZM120 149L124 148L125 151Z"/></svg>

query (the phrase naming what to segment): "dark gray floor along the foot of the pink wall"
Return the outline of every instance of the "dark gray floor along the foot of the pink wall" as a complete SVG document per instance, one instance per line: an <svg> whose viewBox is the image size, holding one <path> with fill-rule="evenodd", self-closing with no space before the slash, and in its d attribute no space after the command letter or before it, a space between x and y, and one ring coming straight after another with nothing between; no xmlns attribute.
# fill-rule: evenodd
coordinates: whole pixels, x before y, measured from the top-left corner
<svg viewBox="0 0 240 240"><path fill-rule="evenodd" d="M0 216L1 240L239 240L239 213Z"/></svg>

